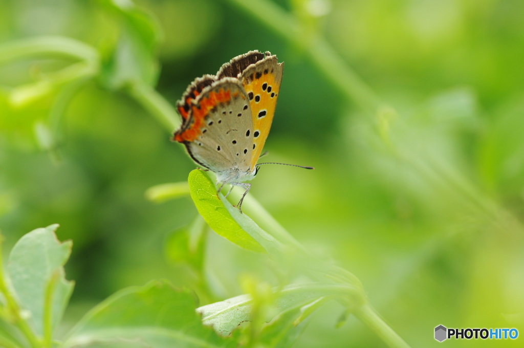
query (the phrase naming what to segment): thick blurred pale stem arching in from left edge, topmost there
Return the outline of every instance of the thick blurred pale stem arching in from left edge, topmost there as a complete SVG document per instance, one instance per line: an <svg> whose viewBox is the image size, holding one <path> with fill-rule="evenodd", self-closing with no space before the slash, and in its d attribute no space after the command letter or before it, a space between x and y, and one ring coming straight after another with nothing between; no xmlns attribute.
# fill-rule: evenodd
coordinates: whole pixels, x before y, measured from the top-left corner
<svg viewBox="0 0 524 348"><path fill-rule="evenodd" d="M0 45L0 64L33 56L58 56L98 61L98 52L85 43L60 36L41 36Z"/></svg>

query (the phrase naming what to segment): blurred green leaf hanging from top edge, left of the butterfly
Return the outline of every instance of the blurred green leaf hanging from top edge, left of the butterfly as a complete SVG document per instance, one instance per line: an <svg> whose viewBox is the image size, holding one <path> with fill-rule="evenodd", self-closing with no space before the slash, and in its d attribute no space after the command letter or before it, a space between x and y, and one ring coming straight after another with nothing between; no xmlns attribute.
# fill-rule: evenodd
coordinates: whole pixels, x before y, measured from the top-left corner
<svg viewBox="0 0 524 348"><path fill-rule="evenodd" d="M160 27L146 10L129 0L100 0L120 21L120 34L114 50L102 66L102 81L110 89L130 83L154 85L159 66L157 46Z"/></svg>

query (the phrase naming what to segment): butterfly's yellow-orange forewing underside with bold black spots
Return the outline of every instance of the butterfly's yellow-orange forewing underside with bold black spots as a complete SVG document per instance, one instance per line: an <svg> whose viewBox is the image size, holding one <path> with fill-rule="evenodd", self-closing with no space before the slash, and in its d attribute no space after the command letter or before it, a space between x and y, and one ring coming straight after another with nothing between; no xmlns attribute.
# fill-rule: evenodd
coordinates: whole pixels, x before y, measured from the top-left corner
<svg viewBox="0 0 524 348"><path fill-rule="evenodd" d="M257 61L239 78L248 97L253 118L253 154L249 167L253 169L266 142L282 81L283 63L276 56Z"/></svg>

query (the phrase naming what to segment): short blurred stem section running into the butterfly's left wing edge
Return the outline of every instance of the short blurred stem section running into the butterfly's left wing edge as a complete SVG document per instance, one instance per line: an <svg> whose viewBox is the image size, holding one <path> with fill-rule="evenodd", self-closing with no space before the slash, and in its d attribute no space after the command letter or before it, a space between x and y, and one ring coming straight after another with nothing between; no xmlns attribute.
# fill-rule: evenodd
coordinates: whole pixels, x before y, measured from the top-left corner
<svg viewBox="0 0 524 348"><path fill-rule="evenodd" d="M129 86L128 91L169 132L180 126L180 117L174 111L173 106L154 88L144 83L135 83Z"/></svg>

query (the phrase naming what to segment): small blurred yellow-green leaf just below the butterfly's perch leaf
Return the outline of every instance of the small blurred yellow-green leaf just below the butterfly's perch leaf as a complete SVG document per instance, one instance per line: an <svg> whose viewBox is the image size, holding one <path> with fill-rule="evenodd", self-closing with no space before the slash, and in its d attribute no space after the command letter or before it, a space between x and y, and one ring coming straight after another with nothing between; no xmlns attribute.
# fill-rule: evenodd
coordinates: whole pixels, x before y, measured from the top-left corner
<svg viewBox="0 0 524 348"><path fill-rule="evenodd" d="M169 235L166 242L166 256L171 262L185 262L196 269L202 268L204 257L204 236L208 225L202 216Z"/></svg>

